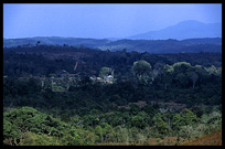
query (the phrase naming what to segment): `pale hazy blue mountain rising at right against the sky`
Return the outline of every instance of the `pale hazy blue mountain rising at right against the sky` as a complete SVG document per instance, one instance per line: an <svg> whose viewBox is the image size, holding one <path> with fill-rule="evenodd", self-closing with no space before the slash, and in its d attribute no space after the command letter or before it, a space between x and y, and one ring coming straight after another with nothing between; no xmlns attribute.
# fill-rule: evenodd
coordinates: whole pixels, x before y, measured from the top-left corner
<svg viewBox="0 0 225 149"><path fill-rule="evenodd" d="M131 40L184 40L199 38L222 38L222 23L203 23L188 20L159 31L127 36L127 39Z"/></svg>

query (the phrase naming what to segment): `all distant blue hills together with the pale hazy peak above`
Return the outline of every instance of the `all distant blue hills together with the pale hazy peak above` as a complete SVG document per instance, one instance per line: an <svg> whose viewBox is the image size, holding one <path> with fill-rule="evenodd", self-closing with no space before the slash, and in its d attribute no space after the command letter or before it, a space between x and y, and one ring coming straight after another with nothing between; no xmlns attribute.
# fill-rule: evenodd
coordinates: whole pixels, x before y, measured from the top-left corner
<svg viewBox="0 0 225 149"><path fill-rule="evenodd" d="M82 39L36 36L3 39L3 46L18 45L73 45L110 51L137 51L150 53L222 52L222 23L202 23L193 20L180 22L160 31L151 31L127 39Z"/></svg>

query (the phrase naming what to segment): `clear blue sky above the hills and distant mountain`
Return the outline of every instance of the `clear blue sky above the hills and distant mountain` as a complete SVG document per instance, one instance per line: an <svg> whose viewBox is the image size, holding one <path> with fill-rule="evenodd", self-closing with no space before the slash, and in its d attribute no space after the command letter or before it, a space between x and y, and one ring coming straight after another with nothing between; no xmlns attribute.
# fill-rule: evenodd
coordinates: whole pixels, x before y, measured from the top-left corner
<svg viewBox="0 0 225 149"><path fill-rule="evenodd" d="M3 38L126 38L185 20L222 22L222 4L4 3Z"/></svg>

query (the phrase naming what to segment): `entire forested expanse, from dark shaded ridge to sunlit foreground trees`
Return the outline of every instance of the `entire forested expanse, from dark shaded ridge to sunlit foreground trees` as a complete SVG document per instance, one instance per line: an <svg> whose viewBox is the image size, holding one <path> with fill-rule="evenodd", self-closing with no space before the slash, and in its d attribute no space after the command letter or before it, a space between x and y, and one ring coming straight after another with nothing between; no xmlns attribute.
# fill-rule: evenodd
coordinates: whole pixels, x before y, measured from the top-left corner
<svg viewBox="0 0 225 149"><path fill-rule="evenodd" d="M169 146L221 129L221 52L3 49L4 145Z"/></svg>

